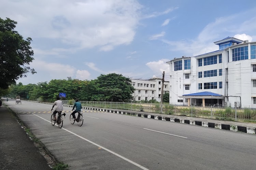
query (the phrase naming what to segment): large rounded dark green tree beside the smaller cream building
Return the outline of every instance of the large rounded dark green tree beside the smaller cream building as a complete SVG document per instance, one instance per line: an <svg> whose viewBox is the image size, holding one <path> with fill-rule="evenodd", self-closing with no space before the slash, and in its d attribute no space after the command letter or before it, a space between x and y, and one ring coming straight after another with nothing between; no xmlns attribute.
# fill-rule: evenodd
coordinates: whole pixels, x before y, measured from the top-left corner
<svg viewBox="0 0 256 170"><path fill-rule="evenodd" d="M126 102L135 90L129 78L116 73L101 74L95 85L97 94L93 95L93 100L97 101Z"/></svg>

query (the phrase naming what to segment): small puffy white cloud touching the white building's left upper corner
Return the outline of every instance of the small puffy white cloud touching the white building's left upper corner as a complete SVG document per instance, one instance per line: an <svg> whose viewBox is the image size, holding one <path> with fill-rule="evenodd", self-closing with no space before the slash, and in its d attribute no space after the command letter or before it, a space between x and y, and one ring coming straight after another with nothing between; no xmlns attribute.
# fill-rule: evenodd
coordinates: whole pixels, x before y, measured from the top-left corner
<svg viewBox="0 0 256 170"><path fill-rule="evenodd" d="M155 71L155 72L163 72L165 71L165 73L169 73L169 64L166 64L166 62L169 62L169 59L161 59L157 62L148 62L146 63L146 66L148 66L151 70Z"/></svg>

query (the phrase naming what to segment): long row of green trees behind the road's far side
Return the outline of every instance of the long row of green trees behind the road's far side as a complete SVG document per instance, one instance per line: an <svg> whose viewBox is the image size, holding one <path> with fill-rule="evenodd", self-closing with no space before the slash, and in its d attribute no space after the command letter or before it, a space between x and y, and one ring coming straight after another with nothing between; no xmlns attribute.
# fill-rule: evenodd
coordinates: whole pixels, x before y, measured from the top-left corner
<svg viewBox="0 0 256 170"><path fill-rule="evenodd" d="M113 101L128 102L132 98L135 88L131 80L122 74L101 74L95 80L78 80L68 77L67 80L51 80L37 84L23 85L22 83L10 86L10 96L19 95L30 100L56 100L59 93L66 93L66 100L76 99L84 101Z"/></svg>

